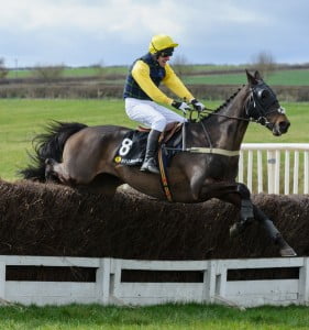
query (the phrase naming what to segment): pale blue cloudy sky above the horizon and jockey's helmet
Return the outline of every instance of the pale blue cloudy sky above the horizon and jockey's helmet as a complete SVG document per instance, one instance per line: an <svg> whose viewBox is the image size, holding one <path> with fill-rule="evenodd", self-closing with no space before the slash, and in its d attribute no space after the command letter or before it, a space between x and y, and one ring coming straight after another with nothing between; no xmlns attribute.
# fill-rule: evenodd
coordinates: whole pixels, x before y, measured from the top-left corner
<svg viewBox="0 0 309 330"><path fill-rule="evenodd" d="M8 67L129 65L169 34L192 64L309 62L308 0L0 0Z"/></svg>

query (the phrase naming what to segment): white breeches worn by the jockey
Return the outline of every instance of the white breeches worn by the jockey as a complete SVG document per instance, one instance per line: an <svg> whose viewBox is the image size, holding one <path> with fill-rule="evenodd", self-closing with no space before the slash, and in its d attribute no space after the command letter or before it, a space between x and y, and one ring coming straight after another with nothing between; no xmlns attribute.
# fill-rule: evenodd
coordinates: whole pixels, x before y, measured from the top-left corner
<svg viewBox="0 0 309 330"><path fill-rule="evenodd" d="M125 98L125 111L130 119L159 132L170 122L187 121L176 112L150 100Z"/></svg>

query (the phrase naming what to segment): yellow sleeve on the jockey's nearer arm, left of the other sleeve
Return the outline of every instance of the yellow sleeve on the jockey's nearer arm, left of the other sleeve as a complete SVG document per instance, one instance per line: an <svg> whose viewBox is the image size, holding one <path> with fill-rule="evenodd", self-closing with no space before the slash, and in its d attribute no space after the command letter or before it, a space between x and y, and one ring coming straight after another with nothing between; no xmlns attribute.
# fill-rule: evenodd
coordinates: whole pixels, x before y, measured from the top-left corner
<svg viewBox="0 0 309 330"><path fill-rule="evenodd" d="M173 99L162 92L153 82L150 76L150 67L143 61L137 61L132 68L132 76L144 92L154 101L165 105L172 105Z"/></svg>

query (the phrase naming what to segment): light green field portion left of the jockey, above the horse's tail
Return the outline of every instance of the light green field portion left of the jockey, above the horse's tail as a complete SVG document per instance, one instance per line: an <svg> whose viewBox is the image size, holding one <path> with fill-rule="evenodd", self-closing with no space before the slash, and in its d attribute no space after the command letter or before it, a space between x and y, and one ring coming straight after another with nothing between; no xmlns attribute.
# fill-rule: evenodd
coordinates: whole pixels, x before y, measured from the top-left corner
<svg viewBox="0 0 309 330"><path fill-rule="evenodd" d="M51 120L132 124L119 100L0 100L0 177L16 178L15 172L27 162L31 141Z"/></svg>

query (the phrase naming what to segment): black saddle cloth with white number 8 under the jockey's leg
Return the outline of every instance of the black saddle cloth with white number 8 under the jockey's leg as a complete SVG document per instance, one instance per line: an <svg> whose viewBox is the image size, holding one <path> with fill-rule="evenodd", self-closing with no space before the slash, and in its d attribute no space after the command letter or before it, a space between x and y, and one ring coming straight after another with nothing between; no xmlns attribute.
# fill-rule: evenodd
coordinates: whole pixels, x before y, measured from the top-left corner
<svg viewBox="0 0 309 330"><path fill-rule="evenodd" d="M165 166L168 166L172 157L183 146L181 125L175 127L172 131L162 133L159 138L159 147L164 157ZM126 166L140 166L146 153L148 131L132 130L123 138L119 146L114 162Z"/></svg>

